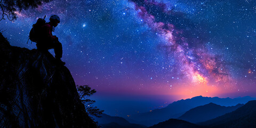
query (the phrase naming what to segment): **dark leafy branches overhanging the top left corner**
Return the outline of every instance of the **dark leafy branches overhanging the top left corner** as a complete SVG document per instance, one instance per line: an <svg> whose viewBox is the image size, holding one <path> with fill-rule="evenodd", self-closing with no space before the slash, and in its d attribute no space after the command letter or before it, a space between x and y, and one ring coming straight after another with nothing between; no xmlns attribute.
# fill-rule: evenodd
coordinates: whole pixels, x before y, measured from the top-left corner
<svg viewBox="0 0 256 128"><path fill-rule="evenodd" d="M0 0L1 10L0 14L2 14L1 20L5 20L5 16L10 21L17 20L18 16L16 11L27 10L30 7L32 9L37 8L38 5L42 5L43 3L48 3L52 0Z"/></svg>

